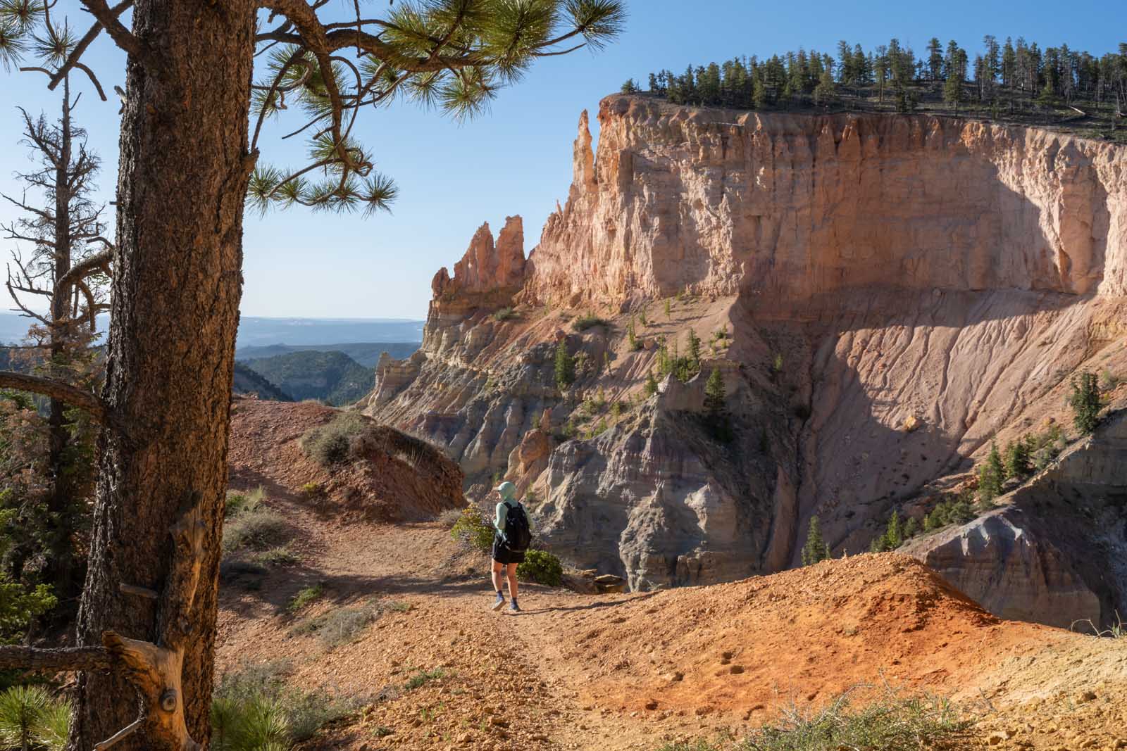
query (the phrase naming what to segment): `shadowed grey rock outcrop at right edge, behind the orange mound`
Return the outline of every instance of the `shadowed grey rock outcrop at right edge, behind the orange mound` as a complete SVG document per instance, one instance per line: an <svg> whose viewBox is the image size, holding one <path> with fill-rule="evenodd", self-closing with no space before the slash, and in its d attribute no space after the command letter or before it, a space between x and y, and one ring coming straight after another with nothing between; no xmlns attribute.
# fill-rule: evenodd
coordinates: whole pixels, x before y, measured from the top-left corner
<svg viewBox="0 0 1127 751"><path fill-rule="evenodd" d="M1004 618L1116 623L1127 610L1127 412L1003 501L907 552Z"/></svg>

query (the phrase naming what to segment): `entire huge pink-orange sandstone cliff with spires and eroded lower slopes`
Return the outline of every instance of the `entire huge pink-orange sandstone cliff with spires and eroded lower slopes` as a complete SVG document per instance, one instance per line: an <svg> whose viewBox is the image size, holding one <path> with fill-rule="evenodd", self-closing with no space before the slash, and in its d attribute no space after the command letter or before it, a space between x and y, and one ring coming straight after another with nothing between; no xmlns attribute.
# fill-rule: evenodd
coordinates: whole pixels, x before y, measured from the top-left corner
<svg viewBox="0 0 1127 751"><path fill-rule="evenodd" d="M507 473L582 566L636 588L777 571L814 515L835 552L864 549L992 438L1066 419L1070 374L1127 373L1122 147L639 97L609 97L600 123L595 152L580 120L567 204L529 259L508 224L479 231L366 408L478 490ZM607 323L575 331L585 312ZM684 351L689 330L701 375L647 397L658 341ZM560 340L580 358L562 392ZM717 368L730 442L702 428ZM1053 575L1088 594L1037 611L1103 597L1066 558Z"/></svg>

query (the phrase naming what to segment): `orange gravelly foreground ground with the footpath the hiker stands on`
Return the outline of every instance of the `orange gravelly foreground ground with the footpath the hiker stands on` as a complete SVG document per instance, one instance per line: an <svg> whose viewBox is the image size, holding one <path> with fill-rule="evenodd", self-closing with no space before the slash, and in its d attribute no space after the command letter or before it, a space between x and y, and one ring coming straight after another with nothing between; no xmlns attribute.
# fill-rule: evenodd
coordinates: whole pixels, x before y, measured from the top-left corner
<svg viewBox="0 0 1127 751"><path fill-rule="evenodd" d="M236 486L245 459L234 446ZM325 515L284 482L266 503L296 563L223 589L220 670L285 660L292 682L358 699L311 749L656 750L886 686L953 698L983 745L1127 744L1127 641L997 619L906 556L635 594L530 585L523 613L495 614L485 560L442 522ZM354 641L293 629L362 604L381 615Z"/></svg>

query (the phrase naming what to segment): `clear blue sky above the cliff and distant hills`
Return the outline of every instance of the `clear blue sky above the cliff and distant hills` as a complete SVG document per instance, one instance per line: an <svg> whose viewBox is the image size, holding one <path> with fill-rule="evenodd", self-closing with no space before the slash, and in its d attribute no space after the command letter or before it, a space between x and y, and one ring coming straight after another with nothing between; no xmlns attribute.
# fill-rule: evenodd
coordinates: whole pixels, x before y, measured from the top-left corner
<svg viewBox="0 0 1127 751"><path fill-rule="evenodd" d="M334 2L352 6L345 0ZM1000 0L952 0L937 7L913 2L757 2L754 0L627 0L630 19L620 41L597 54L586 51L540 62L525 79L500 92L490 111L463 125L411 105L362 115L357 132L372 147L376 168L391 175L400 197L391 214L312 214L307 209L248 215L243 274L246 315L311 318L423 318L431 277L452 267L474 230L488 221L498 231L505 216L524 217L525 250L535 245L556 200L571 180L571 142L579 113L630 77L645 81L651 70L681 72L689 63L743 54L771 54L805 47L833 53L838 39L866 50L896 36L917 53L932 36L958 39L974 56L985 34L1000 39L1024 36L1041 46L1066 42L1093 54L1127 41L1127 11L1117 0L1048 0L1021 3L1020 12ZM369 3L372 10L385 5ZM74 25L86 14L76 0L52 12L70 12ZM1115 8L1120 7L1120 10ZM1118 18L1116 18L1118 17ZM85 30L85 26L80 33ZM107 90L124 86L124 56L105 36L88 52ZM16 170L29 166L17 146L16 106L54 111L57 99L38 73L0 71L0 191L18 195ZM92 87L77 114L90 144L104 159L101 197L116 180L117 101L101 102ZM292 117L268 125L275 135L301 124ZM287 127L289 126L289 127ZM597 135L597 134L596 134ZM304 144L266 140L264 160L298 164ZM11 221L0 206L0 222ZM10 241L0 242L5 257ZM8 307L0 290L0 306Z"/></svg>

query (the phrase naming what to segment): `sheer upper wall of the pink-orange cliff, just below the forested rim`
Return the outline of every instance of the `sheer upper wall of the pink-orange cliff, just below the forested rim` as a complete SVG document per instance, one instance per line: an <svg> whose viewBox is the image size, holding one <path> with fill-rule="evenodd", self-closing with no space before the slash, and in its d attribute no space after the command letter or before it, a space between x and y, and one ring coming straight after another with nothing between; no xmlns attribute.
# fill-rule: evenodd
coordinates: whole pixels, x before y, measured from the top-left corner
<svg viewBox="0 0 1127 751"><path fill-rule="evenodd" d="M1122 149L930 116L806 116L607 97L586 115L538 299L879 286L1124 293ZM594 163L594 166L593 166Z"/></svg>

